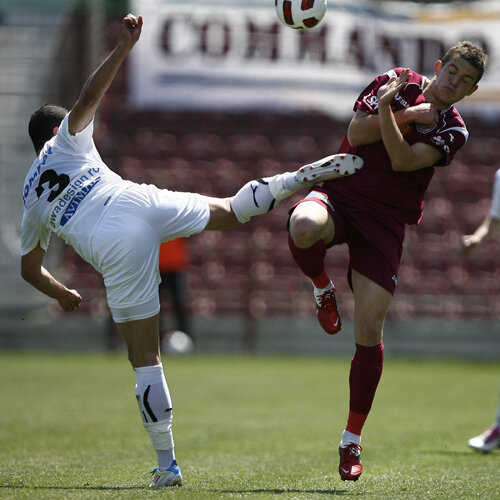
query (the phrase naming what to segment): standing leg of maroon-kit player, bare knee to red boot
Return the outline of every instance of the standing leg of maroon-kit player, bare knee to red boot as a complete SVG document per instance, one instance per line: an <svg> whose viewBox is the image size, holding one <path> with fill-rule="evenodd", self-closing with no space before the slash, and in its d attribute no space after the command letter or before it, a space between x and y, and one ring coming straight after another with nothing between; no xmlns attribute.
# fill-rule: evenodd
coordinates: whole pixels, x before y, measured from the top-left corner
<svg viewBox="0 0 500 500"><path fill-rule="evenodd" d="M356 352L349 373L349 416L339 446L339 473L343 480L357 481L363 471L361 432L382 375L382 332L392 295L356 271L352 273L352 283Z"/></svg>

